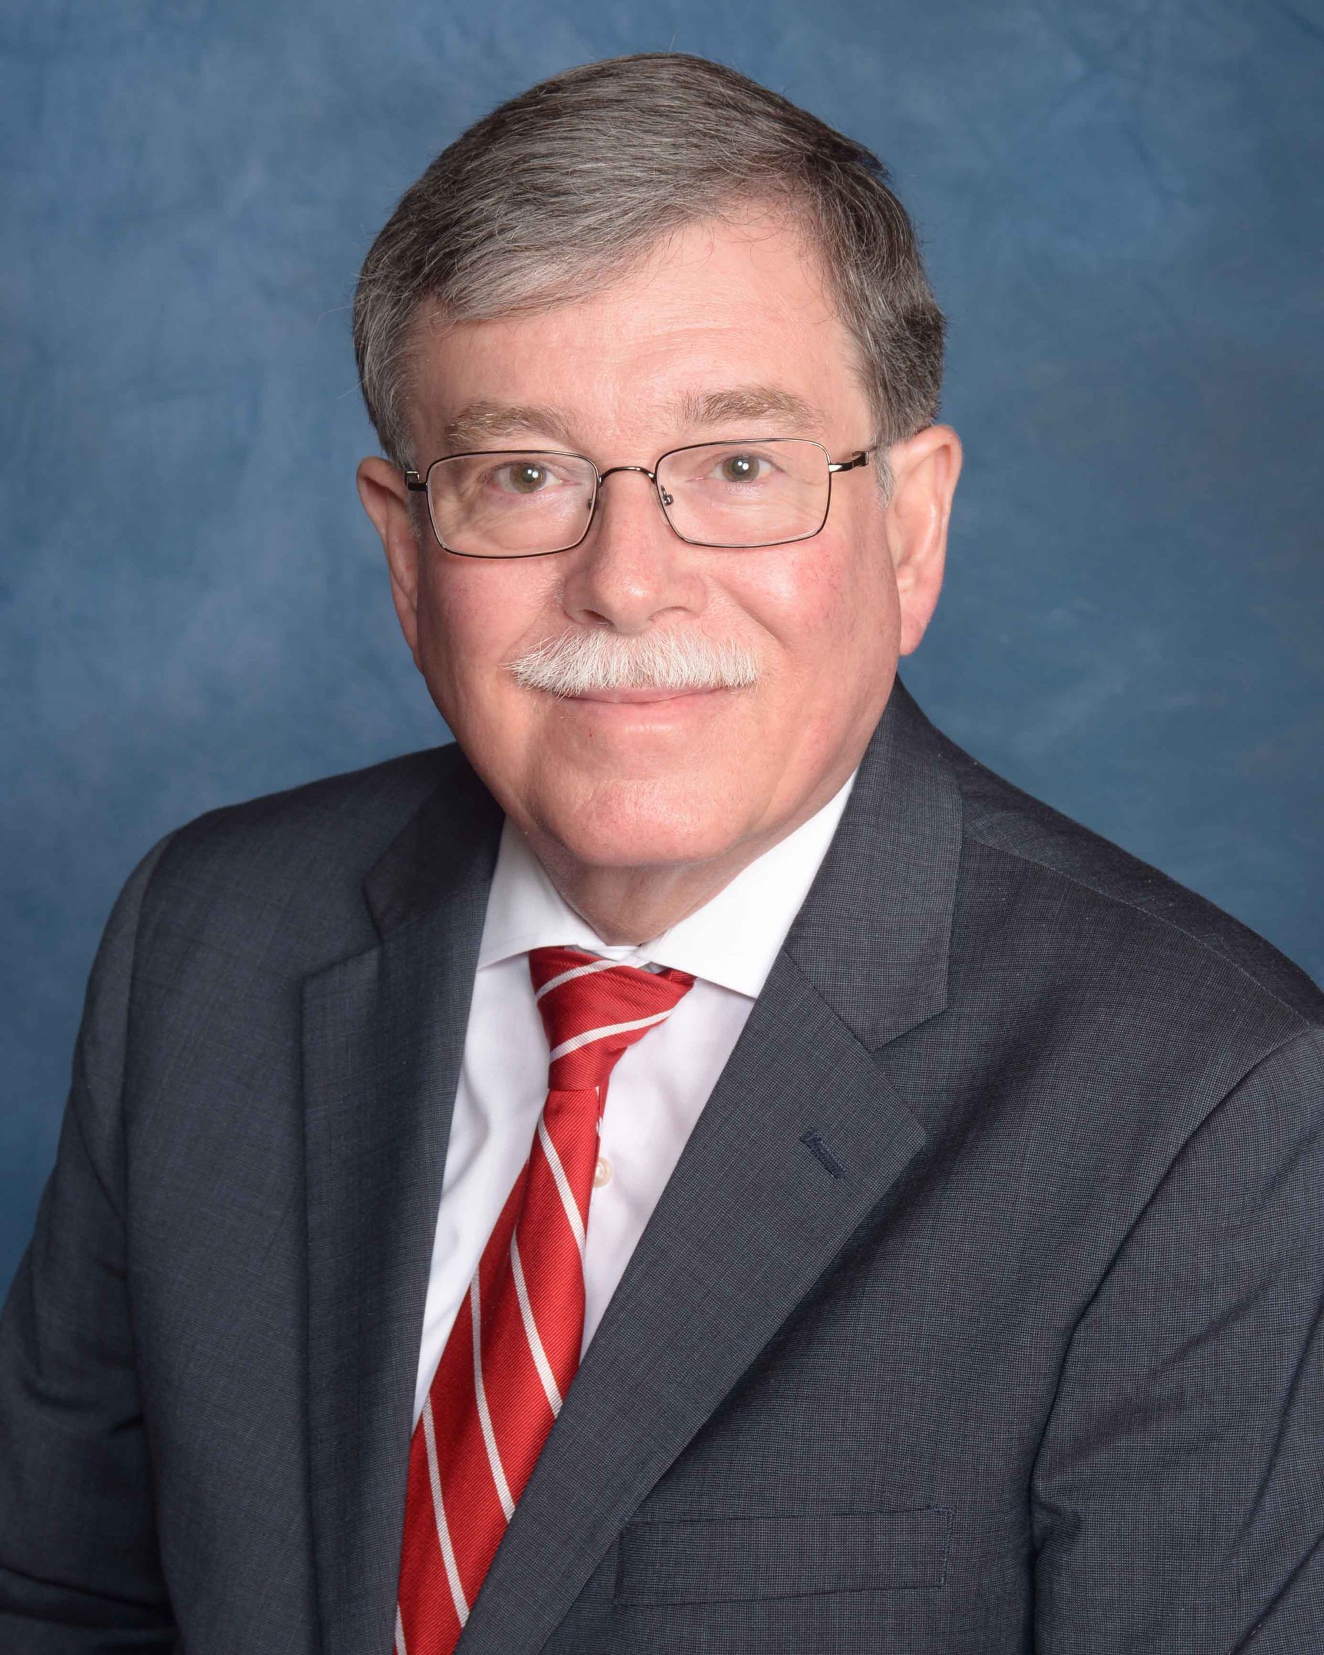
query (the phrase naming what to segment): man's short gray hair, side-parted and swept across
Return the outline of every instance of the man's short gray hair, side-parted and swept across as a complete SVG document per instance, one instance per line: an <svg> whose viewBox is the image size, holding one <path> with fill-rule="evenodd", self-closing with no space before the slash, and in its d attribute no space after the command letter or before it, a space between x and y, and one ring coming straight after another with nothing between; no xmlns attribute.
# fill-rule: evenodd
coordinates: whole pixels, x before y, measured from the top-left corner
<svg viewBox="0 0 1324 1655"><path fill-rule="evenodd" d="M874 440L922 430L938 410L943 318L882 162L735 70L665 51L531 86L404 194L354 295L359 382L382 449L410 463L410 334L424 306L450 323L573 303L684 225L758 204L789 210L823 261L859 348Z"/></svg>

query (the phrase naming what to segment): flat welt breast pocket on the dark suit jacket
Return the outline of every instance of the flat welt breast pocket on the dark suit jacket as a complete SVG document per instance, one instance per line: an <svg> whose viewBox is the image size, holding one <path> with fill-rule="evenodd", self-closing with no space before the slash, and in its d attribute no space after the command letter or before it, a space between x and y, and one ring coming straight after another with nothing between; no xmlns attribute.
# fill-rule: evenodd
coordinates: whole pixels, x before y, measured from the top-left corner
<svg viewBox="0 0 1324 1655"><path fill-rule="evenodd" d="M621 1536L616 1602L644 1607L932 1590L947 1579L950 1516L925 1506L632 1523Z"/></svg>

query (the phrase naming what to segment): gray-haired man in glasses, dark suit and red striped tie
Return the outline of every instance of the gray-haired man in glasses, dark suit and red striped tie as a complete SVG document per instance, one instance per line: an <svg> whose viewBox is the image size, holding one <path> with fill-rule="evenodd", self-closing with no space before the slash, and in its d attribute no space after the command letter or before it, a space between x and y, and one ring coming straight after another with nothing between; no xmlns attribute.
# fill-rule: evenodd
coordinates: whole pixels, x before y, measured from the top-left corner
<svg viewBox="0 0 1324 1655"><path fill-rule="evenodd" d="M5 1648L1324 1648L1324 1005L895 679L940 339L877 162L700 60L404 197L359 492L458 745L126 887Z"/></svg>

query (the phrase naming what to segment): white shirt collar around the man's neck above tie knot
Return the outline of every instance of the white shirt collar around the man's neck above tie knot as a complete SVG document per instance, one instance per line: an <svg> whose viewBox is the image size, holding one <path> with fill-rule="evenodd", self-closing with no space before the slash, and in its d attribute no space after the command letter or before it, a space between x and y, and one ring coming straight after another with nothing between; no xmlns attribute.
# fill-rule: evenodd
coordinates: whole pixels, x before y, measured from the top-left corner
<svg viewBox="0 0 1324 1655"><path fill-rule="evenodd" d="M856 773L821 811L741 869L710 902L639 947L604 943L561 897L525 834L506 818L478 970L530 948L561 945L629 965L669 965L756 998L828 854L854 781Z"/></svg>

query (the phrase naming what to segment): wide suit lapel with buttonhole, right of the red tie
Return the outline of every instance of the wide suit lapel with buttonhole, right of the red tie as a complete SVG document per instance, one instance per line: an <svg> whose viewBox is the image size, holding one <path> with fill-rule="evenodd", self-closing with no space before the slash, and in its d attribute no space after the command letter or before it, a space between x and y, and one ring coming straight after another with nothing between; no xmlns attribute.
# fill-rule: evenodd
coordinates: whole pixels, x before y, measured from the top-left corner
<svg viewBox="0 0 1324 1655"><path fill-rule="evenodd" d="M589 1346L460 1642L535 1655L923 1144L871 1049L947 1003L960 796L900 684Z"/></svg>

